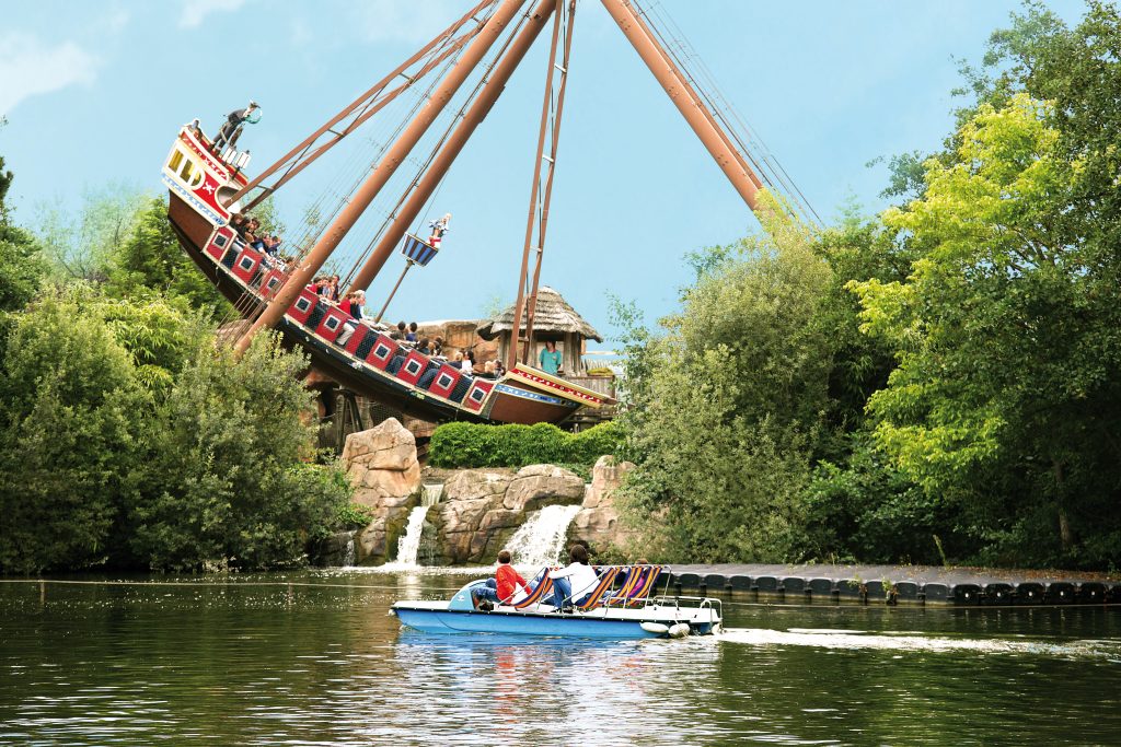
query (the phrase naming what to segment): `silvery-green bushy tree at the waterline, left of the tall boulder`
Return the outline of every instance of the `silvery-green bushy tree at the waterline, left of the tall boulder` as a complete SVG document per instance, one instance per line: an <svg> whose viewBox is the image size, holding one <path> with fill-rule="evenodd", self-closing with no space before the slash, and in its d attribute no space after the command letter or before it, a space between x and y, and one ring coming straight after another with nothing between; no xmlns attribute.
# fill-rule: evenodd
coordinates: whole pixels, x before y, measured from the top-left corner
<svg viewBox="0 0 1121 747"><path fill-rule="evenodd" d="M260 335L244 357L205 340L145 430L130 479L137 562L193 570L303 562L349 501L334 468L305 464L315 431L306 360Z"/></svg>

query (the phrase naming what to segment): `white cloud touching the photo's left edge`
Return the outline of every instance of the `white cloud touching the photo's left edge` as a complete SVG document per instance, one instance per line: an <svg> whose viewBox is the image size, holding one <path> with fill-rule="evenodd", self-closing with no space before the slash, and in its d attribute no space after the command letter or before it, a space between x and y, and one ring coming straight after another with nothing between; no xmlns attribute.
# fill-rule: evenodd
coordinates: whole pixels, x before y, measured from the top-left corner
<svg viewBox="0 0 1121 747"><path fill-rule="evenodd" d="M73 41L48 46L31 34L0 34L0 114L37 94L90 85L100 66L99 57Z"/></svg>

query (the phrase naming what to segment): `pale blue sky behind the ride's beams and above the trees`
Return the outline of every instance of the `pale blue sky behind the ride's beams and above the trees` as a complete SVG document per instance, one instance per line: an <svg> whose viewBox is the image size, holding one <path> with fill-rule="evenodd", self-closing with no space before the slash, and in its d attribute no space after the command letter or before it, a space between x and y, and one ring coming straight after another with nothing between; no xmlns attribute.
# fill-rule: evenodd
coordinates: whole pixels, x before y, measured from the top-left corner
<svg viewBox="0 0 1121 747"><path fill-rule="evenodd" d="M869 213L883 207L886 168L865 164L937 147L951 127L955 58L979 59L1019 8L648 1L673 16L826 220L850 197ZM160 192L179 124L198 116L213 131L250 97L265 116L240 144L253 152L250 171L263 168L470 4L7 0L0 155L16 172L17 220L31 224L48 204L77 206L108 184ZM1068 22L1083 11L1081 0L1048 4ZM390 316L474 318L494 297L512 300L546 53L543 35L442 186L432 213L454 216L444 251L410 273ZM278 195L289 235L342 168L328 167L335 171L308 169ZM689 281L683 255L756 225L602 6L581 0L543 281L610 333L609 293L638 301L648 319L667 314ZM398 267L371 286L378 306Z"/></svg>

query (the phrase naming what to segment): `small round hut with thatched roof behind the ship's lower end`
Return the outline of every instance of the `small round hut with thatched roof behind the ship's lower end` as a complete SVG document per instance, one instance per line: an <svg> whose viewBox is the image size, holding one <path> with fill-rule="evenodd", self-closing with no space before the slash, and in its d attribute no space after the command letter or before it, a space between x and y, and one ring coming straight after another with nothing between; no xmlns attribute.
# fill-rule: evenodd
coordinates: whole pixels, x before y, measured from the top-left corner
<svg viewBox="0 0 1121 747"><path fill-rule="evenodd" d="M493 319L483 320L479 326L479 336L490 340L499 338L499 355L504 360L510 349L510 338L513 334L513 306L502 311ZM591 338L597 343L603 337L595 327L587 324L576 309L568 305L555 289L541 286L537 289L537 308L534 312L534 337L530 340L532 355L530 361L537 365L537 356L547 340L557 344L564 361L565 373L580 375L584 373L584 340Z"/></svg>

